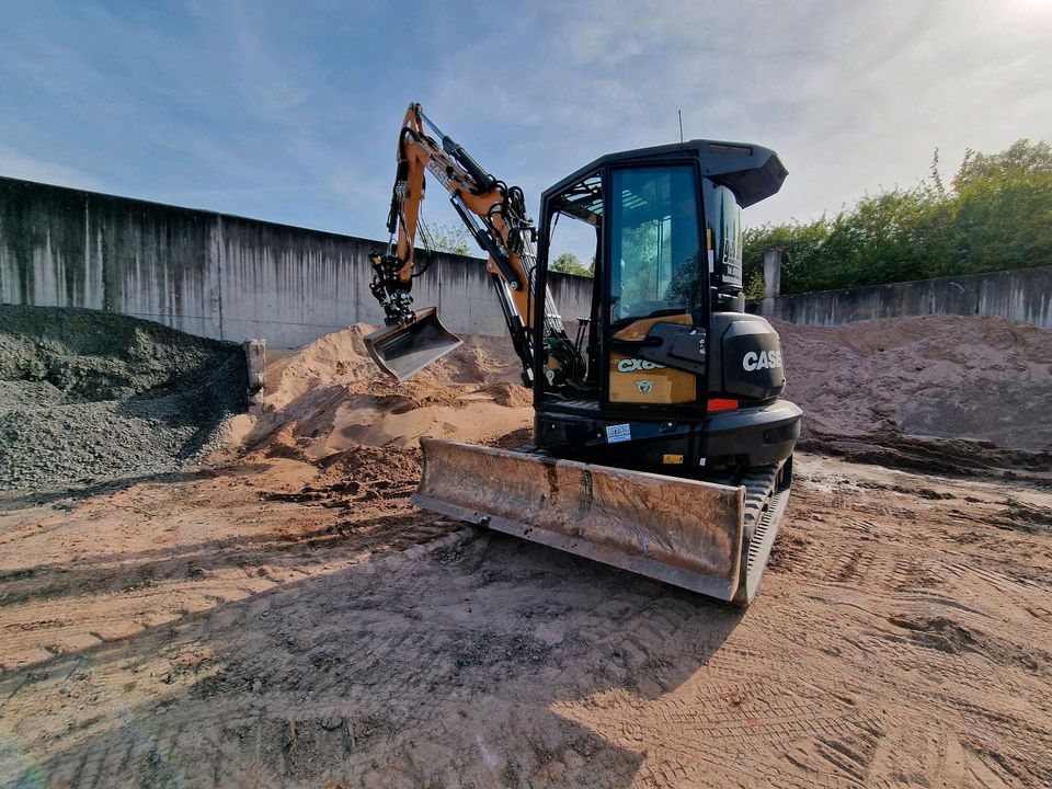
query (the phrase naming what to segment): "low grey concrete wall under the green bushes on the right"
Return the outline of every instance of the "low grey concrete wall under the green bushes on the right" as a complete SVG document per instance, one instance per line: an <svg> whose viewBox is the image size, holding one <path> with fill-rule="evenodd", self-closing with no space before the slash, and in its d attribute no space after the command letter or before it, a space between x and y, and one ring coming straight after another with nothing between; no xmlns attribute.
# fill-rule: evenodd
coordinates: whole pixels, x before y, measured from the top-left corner
<svg viewBox="0 0 1052 789"><path fill-rule="evenodd" d="M838 325L872 318L996 316L1052 329L1052 266L777 296L761 301L767 317Z"/></svg>

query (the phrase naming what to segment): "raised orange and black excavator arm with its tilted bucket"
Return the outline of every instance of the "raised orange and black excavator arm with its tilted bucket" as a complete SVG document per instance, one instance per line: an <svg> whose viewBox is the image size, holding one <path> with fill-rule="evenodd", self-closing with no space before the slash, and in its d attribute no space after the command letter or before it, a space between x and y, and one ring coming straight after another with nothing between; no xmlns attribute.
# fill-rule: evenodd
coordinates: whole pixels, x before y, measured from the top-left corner
<svg viewBox="0 0 1052 789"><path fill-rule="evenodd" d="M434 308L416 311L411 295L414 277L430 265L416 264L416 235L426 175L449 193L449 202L472 238L487 253L485 263L523 364L524 382L533 371L535 300L533 293L536 230L526 215L523 191L485 171L458 142L409 105L398 138L398 170L388 215L388 245L374 252L371 291L385 313L385 328L366 338L381 369L404 380L453 351L460 341L438 321ZM551 304L551 299L546 299ZM546 333L565 335L558 315L546 317Z"/></svg>

